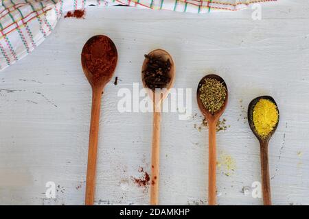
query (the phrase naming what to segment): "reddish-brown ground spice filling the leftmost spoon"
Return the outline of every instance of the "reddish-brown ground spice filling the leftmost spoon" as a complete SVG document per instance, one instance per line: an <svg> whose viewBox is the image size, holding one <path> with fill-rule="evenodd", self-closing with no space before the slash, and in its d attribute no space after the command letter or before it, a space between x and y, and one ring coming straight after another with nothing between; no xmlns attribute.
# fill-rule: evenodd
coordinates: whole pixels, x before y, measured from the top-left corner
<svg viewBox="0 0 309 219"><path fill-rule="evenodd" d="M113 72L117 62L117 49L110 38L94 36L84 45L82 57L85 59L85 67L98 79Z"/></svg>

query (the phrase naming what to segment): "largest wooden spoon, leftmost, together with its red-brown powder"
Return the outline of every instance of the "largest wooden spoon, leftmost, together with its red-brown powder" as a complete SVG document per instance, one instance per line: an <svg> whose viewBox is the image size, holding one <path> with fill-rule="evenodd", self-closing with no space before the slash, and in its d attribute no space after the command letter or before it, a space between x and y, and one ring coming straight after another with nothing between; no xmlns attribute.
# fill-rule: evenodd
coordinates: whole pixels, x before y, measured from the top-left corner
<svg viewBox="0 0 309 219"><path fill-rule="evenodd" d="M93 36L84 44L81 56L84 75L92 88L85 205L93 205L101 97L106 83L113 77L118 55L113 41L107 36L98 35Z"/></svg>

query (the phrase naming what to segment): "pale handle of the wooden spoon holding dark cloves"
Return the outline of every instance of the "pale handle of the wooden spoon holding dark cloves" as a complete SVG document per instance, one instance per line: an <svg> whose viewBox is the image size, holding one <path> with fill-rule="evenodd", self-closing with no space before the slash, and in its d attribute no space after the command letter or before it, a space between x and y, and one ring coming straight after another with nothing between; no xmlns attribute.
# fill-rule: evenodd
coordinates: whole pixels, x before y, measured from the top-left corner
<svg viewBox="0 0 309 219"><path fill-rule="evenodd" d="M154 112L152 130L150 205L158 205L159 200L160 122L161 112Z"/></svg>

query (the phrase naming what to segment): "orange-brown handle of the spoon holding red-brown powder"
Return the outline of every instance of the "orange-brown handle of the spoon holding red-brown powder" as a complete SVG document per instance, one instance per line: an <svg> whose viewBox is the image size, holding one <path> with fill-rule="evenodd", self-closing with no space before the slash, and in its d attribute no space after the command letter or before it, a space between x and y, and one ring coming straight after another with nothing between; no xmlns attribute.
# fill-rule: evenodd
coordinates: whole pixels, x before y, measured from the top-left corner
<svg viewBox="0 0 309 219"><path fill-rule="evenodd" d="M93 88L85 205L93 205L94 200L101 97L102 88Z"/></svg>

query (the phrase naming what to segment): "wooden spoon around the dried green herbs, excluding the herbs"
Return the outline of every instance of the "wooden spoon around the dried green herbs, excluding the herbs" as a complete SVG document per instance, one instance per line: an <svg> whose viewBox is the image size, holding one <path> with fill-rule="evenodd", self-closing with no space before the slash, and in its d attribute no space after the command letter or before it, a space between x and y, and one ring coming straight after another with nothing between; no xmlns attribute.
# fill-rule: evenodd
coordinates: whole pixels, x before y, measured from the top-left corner
<svg viewBox="0 0 309 219"><path fill-rule="evenodd" d="M196 91L198 107L200 108L202 114L205 116L209 129L208 205L216 205L216 125L220 116L223 114L223 112L225 112L225 108L227 107L228 92L225 98L225 103L222 105L221 109L217 112L214 112L214 114L211 114L211 112L205 108L200 99L200 88L205 83L205 79L208 78L217 79L223 84L223 86L225 86L225 88L227 88L227 85L225 81L218 75L206 75L201 79L200 83L198 83L198 88Z"/></svg>

